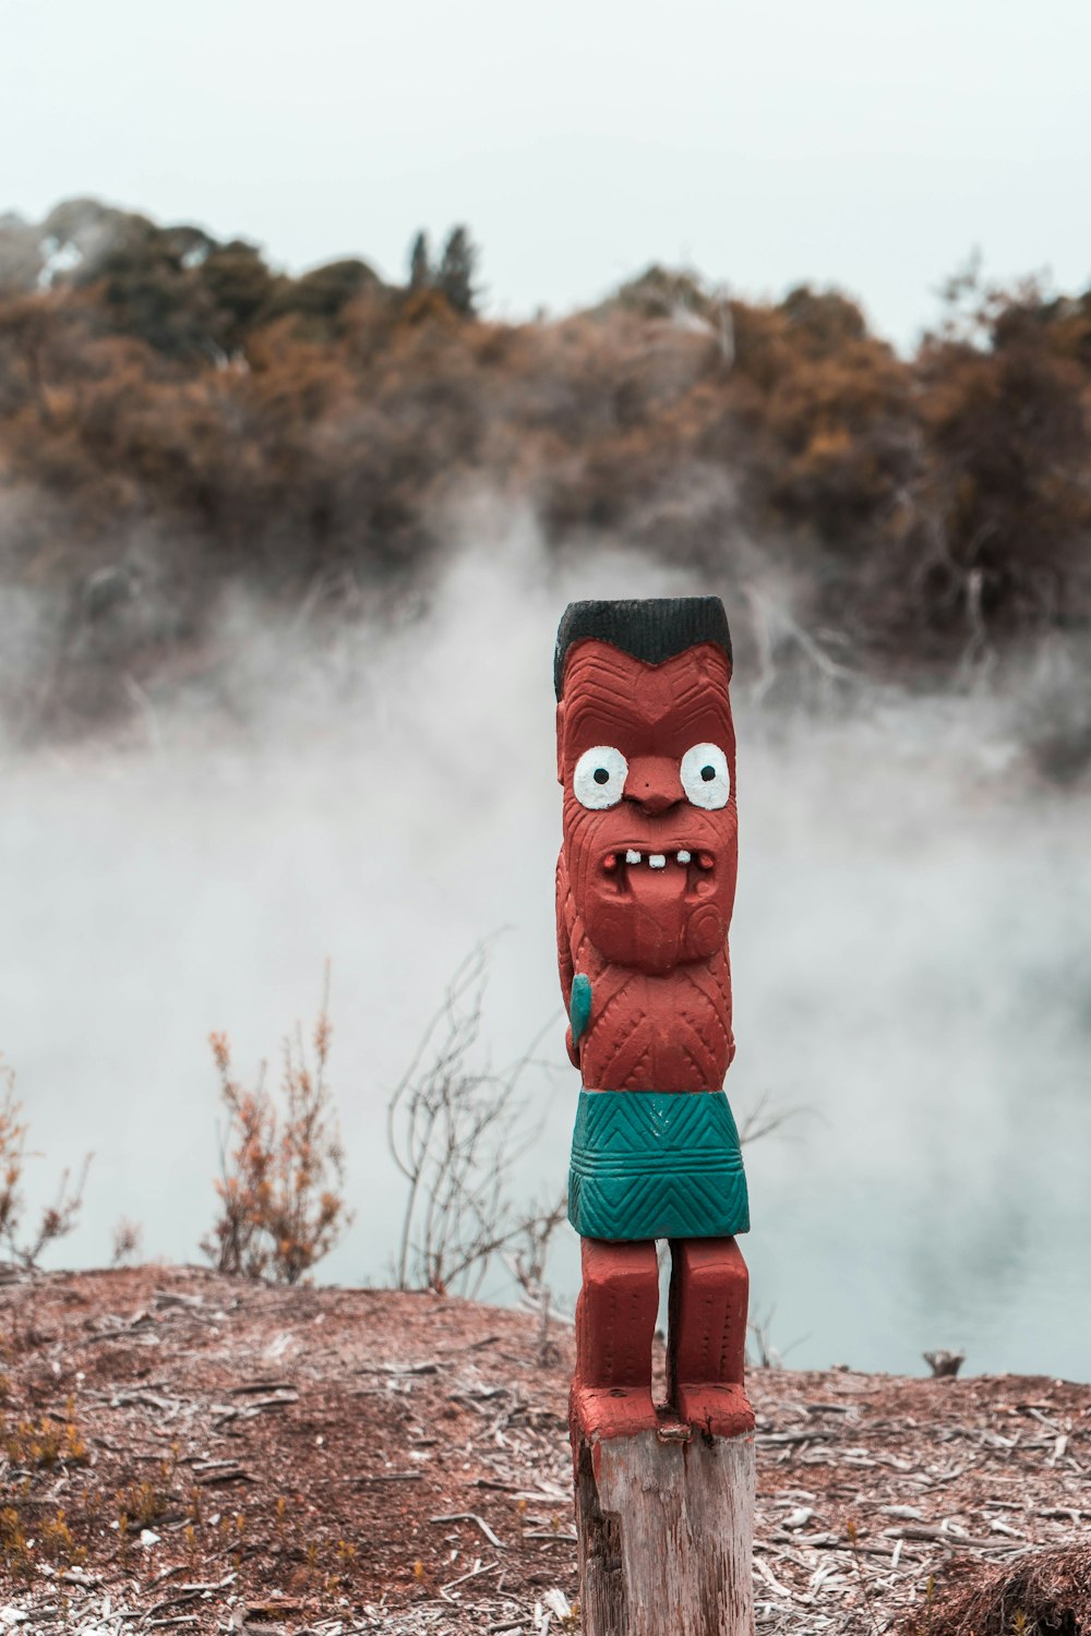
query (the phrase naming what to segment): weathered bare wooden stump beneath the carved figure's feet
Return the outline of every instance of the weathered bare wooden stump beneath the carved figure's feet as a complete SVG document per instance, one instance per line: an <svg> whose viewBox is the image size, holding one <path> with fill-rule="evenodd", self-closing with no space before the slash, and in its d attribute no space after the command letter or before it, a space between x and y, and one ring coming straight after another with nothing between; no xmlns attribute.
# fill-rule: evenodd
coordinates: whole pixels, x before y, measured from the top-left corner
<svg viewBox="0 0 1091 1636"><path fill-rule="evenodd" d="M572 1425L584 1636L752 1636L754 1436Z"/></svg>

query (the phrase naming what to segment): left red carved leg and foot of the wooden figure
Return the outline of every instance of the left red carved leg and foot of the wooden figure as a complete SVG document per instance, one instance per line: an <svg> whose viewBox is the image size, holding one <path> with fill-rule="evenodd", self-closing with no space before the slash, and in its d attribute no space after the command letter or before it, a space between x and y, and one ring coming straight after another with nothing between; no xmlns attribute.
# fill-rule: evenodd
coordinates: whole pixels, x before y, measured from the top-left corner
<svg viewBox="0 0 1091 1636"><path fill-rule="evenodd" d="M576 1302L572 1428L625 1436L656 1427L651 1342L659 1310L659 1268L651 1240L581 1238L584 1286Z"/></svg>

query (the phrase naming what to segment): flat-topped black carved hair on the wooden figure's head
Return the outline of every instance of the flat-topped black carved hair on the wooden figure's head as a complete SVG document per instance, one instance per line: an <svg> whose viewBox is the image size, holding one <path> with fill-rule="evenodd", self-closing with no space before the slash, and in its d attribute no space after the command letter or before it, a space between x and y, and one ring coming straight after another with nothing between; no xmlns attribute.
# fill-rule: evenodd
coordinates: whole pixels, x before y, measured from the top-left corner
<svg viewBox="0 0 1091 1636"><path fill-rule="evenodd" d="M715 641L731 664L731 631L720 597L646 597L631 602L569 602L556 633L553 685L564 685L564 659L572 643L608 641L644 664L662 664L698 641Z"/></svg>

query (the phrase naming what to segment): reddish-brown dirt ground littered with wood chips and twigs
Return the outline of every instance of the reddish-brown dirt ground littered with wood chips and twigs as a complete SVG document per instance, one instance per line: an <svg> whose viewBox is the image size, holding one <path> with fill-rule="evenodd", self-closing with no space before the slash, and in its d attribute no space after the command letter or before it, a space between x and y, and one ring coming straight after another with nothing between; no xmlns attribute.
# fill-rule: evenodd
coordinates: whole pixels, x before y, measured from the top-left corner
<svg viewBox="0 0 1091 1636"><path fill-rule="evenodd" d="M8 1274L0 1345L0 1631L579 1628L563 1324L144 1266ZM759 1633L944 1636L1091 1543L1091 1386L749 1386Z"/></svg>

